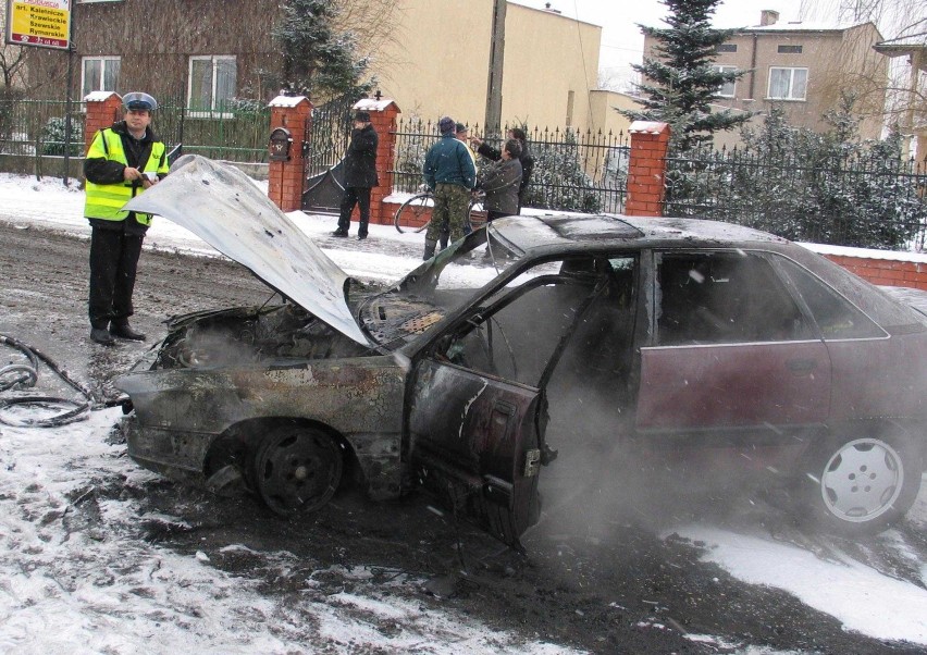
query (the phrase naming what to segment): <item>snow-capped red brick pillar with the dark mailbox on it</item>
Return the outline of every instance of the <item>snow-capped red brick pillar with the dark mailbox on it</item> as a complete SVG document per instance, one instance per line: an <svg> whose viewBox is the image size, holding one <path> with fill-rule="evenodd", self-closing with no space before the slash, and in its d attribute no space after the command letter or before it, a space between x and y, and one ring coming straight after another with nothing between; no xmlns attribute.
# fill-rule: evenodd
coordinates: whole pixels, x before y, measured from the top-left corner
<svg viewBox="0 0 927 655"><path fill-rule="evenodd" d="M268 196L282 211L296 211L302 207L302 143L309 136L312 103L302 96L277 96L268 107L271 132L283 127L293 139L289 159L270 162Z"/></svg>

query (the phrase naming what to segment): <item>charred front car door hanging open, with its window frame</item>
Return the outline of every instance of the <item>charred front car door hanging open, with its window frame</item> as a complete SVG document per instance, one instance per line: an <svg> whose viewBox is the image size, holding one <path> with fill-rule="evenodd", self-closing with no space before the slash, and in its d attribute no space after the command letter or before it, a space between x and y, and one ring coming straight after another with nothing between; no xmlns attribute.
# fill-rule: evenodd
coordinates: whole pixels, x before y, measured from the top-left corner
<svg viewBox="0 0 927 655"><path fill-rule="evenodd" d="M455 515L512 545L536 522L540 467L552 455L546 381L606 288L594 271L564 269L561 261L534 267L465 312L412 373L417 479Z"/></svg>

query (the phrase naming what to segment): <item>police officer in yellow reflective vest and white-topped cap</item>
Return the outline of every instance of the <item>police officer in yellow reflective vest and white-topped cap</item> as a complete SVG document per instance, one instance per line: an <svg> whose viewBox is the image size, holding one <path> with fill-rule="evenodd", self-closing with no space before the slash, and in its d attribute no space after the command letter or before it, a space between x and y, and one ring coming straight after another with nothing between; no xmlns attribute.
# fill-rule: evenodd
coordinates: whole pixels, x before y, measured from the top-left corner
<svg viewBox="0 0 927 655"><path fill-rule="evenodd" d="M168 174L164 144L151 131L158 102L148 94L123 98L124 119L94 136L84 160L90 221L90 339L112 346L113 337L145 341L128 324L141 242L151 214L122 206Z"/></svg>

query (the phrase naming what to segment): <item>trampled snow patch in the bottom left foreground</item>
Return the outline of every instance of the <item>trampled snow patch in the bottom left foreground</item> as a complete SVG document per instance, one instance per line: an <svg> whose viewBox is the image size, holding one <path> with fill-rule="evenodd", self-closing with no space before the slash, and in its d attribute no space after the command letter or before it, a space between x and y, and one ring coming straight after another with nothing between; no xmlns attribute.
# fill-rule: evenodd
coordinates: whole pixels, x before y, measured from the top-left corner
<svg viewBox="0 0 927 655"><path fill-rule="evenodd" d="M258 581L211 567L210 553L185 557L146 542L141 522L172 519L139 521L141 510L123 494L157 477L126 458L123 445L101 438L120 415L108 409L62 428L0 429L0 653L294 653L312 643L331 653L570 652L418 603L391 597L387 605L376 596L382 584L366 586L366 596L270 601ZM87 504L100 515L90 527L74 511ZM286 553L263 555L282 574L300 568ZM383 621L395 630L384 633Z"/></svg>

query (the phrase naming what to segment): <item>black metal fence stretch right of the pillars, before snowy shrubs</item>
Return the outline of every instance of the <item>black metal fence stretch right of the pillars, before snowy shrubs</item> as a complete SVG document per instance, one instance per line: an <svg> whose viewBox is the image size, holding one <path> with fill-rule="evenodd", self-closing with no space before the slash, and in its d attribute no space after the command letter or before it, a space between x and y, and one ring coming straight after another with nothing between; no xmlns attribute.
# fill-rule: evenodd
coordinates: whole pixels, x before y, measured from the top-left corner
<svg viewBox="0 0 927 655"><path fill-rule="evenodd" d="M924 250L927 161L878 148L803 157L696 150L667 158L664 215L738 223L800 242Z"/></svg>

